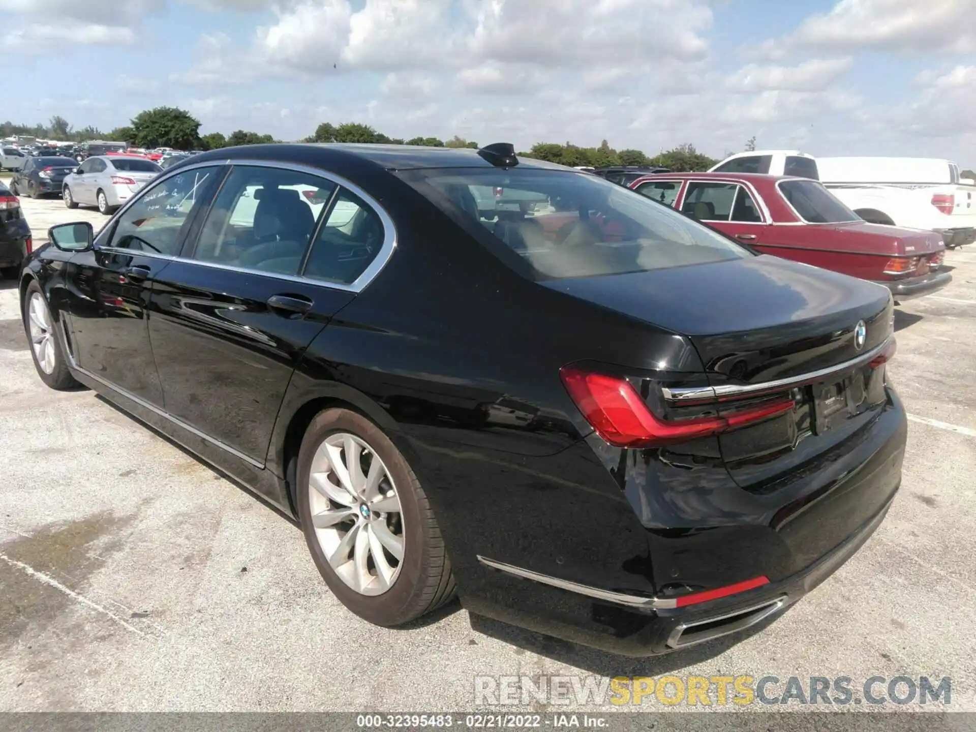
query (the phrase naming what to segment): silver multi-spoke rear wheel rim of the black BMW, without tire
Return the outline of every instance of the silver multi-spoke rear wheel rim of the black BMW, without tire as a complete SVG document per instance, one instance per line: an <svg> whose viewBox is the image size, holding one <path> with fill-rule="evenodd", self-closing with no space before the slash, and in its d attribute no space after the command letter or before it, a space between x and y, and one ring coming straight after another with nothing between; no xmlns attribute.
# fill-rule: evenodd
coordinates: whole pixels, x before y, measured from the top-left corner
<svg viewBox="0 0 976 732"><path fill-rule="evenodd" d="M383 594L403 562L403 513L380 456L348 432L318 446L308 475L315 536L333 571L361 594Z"/></svg>

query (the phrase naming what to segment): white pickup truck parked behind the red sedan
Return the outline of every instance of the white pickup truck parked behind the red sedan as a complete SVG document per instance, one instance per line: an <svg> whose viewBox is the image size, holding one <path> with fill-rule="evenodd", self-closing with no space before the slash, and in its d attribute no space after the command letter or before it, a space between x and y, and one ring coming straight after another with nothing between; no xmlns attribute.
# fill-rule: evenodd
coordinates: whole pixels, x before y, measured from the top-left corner
<svg viewBox="0 0 976 732"><path fill-rule="evenodd" d="M939 158L818 157L799 150L756 150L727 157L718 173L767 173L824 183L873 224L931 229L954 249L976 240L976 185Z"/></svg>

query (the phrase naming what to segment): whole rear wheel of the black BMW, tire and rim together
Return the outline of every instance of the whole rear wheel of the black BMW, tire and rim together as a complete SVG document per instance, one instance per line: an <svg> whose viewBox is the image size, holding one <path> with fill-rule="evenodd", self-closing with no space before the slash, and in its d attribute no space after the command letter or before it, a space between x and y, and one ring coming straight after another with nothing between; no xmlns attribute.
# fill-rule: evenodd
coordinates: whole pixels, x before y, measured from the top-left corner
<svg viewBox="0 0 976 732"><path fill-rule="evenodd" d="M328 440L335 443L329 450ZM357 483L353 479L361 489L356 499L342 487L332 467L337 458L346 465L346 445L360 456L361 479ZM379 490L371 492L369 475L377 459L377 469L384 474ZM313 467L318 488L310 481ZM296 501L315 566L336 597L363 620L386 628L401 626L454 596L451 563L427 495L400 451L365 417L346 409L327 409L311 421L299 451ZM370 510L371 506L386 511ZM337 518L341 514L345 517ZM349 534L355 540L350 541ZM395 567L396 555L387 550L390 546L398 546L402 556ZM380 568L377 551L385 570ZM356 558L361 558L361 565Z"/></svg>

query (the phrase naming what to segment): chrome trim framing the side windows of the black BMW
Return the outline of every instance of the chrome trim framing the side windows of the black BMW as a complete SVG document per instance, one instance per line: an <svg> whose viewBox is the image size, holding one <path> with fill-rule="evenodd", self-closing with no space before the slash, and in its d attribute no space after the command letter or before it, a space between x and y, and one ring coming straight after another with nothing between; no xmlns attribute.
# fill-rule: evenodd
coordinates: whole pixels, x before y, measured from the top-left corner
<svg viewBox="0 0 976 732"><path fill-rule="evenodd" d="M235 165L256 167L256 168L278 168L281 170L289 170L297 173L305 173L307 175L314 176L316 178L321 178L331 183L335 183L337 186L342 186L346 188L346 190L357 195L360 199L362 199L362 201L367 206L373 209L373 212L378 217L380 217L380 222L381 224L383 224L383 244L380 246L380 251L373 259L373 262L371 262L369 266L367 266L362 271L362 273L358 277L356 277L355 280L353 280L351 283L346 285L339 282L329 282L328 280L317 279L315 277L307 277L305 275L300 275L300 274L296 274L296 275L281 274L277 272L267 272L261 269L252 269L250 267L234 266L232 264L203 262L201 260L194 260L188 257L180 257L179 255L172 255L172 256L171 255L149 255L144 252L135 252L133 250L98 246L98 237L96 237L96 246L98 246L98 249L100 251L109 251L118 254L128 254L128 255L139 256L139 257L154 256L156 259L170 260L173 262L183 262L188 264L200 264L202 266L210 266L213 268L224 269L233 272L242 272L244 274L258 274L258 275L263 275L265 277L275 277L277 279L282 279L286 281L302 282L304 284L318 285L319 287L328 287L334 290L344 290L346 292L352 292L352 293L362 292L366 288L366 286L369 285L370 282L376 279L377 275L380 274L380 272L386 266L386 263L389 262L389 259L393 256L393 252L396 250L396 245L397 245L396 226L393 224L393 220L389 217L389 214L386 213L386 209L383 206L381 206L379 201L377 201L373 196L371 196L369 193L367 193L365 190L360 188L355 183L352 183L348 181L346 178L343 178L342 176L338 176L332 173L331 171L326 171L321 168L314 168L307 165L301 165L299 163L278 162L275 160L251 160L251 159L244 159L244 158L238 160L238 159L229 159L229 158L228 159L215 158L214 160L205 160L198 163L192 163L191 165L182 166L177 169L166 170L162 174L160 174L158 178L153 179L153 181L151 181L150 183L147 183L140 191L140 195L136 196L135 198L130 200L125 206L120 208L115 213L115 215L112 216L112 218L109 219L108 222L102 227L102 230L99 232L99 236L102 236L102 233L108 231L109 228L115 223L117 217L123 216L125 212L128 211L132 205L134 205L137 201L142 199L142 195L144 195L145 191L151 189L155 185L159 183L163 183L169 178L172 178L173 176L178 176L182 173L185 173L186 171L196 170L198 168L221 168L225 166L233 167ZM310 252L311 247L313 247L314 245L315 242L314 241L311 242L309 248L306 251Z"/></svg>

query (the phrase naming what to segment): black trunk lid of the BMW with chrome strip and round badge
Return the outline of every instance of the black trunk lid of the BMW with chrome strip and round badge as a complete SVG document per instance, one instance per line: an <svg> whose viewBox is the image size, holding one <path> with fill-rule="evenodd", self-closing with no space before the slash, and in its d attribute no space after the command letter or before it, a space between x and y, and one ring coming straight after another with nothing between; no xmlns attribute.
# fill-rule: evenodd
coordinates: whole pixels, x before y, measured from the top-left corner
<svg viewBox="0 0 976 732"><path fill-rule="evenodd" d="M893 304L874 283L759 256L543 284L687 337L722 416L793 399L791 411L717 438L729 474L752 493L803 480L883 408L884 369L868 361L891 336ZM676 394L666 398L685 403Z"/></svg>

